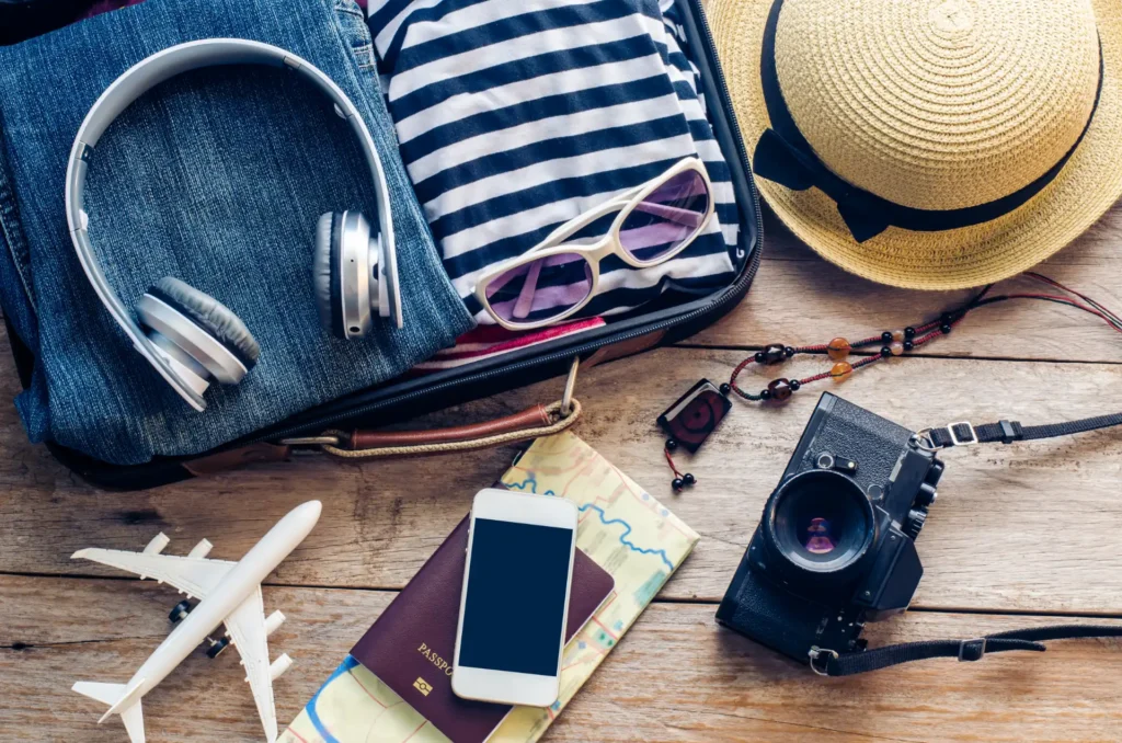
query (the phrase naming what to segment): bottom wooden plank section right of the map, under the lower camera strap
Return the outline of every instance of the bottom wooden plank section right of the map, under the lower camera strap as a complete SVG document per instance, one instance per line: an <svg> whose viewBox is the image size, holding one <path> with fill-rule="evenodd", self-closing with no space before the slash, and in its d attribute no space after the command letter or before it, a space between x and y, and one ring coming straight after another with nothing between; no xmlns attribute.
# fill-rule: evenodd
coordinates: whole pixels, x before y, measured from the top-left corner
<svg viewBox="0 0 1122 743"><path fill-rule="evenodd" d="M1055 624L912 613L871 625L874 646ZM976 664L929 661L850 679L806 668L712 623L712 607L652 606L554 731L554 741L1105 741L1122 703L1118 641L1055 643ZM1101 669L1101 671L1098 670ZM1104 676L1100 677L1102 672Z"/></svg>

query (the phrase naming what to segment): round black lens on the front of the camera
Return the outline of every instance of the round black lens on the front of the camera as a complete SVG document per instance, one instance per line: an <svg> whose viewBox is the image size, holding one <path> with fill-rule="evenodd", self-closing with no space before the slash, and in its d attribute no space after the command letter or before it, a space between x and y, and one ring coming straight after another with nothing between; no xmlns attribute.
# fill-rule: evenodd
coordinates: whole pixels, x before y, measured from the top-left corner
<svg viewBox="0 0 1122 743"><path fill-rule="evenodd" d="M775 492L769 507L769 541L801 571L836 575L856 565L873 542L873 507L845 475L798 475Z"/></svg>

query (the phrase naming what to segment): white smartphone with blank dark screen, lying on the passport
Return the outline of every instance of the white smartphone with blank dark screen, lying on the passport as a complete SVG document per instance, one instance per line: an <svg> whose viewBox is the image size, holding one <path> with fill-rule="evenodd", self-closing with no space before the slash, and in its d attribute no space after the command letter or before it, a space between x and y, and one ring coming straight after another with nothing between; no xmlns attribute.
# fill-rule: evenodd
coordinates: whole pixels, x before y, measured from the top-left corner
<svg viewBox="0 0 1122 743"><path fill-rule="evenodd" d="M471 506L452 691L549 707L560 690L577 506L486 489Z"/></svg>

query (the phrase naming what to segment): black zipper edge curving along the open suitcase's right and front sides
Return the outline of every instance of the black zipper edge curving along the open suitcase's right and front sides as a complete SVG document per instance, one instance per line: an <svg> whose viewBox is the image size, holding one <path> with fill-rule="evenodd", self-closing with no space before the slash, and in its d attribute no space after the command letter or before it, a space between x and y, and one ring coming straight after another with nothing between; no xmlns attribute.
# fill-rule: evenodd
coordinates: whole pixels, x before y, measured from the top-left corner
<svg viewBox="0 0 1122 743"><path fill-rule="evenodd" d="M736 112L733 110L733 101L728 93L728 82L725 79L725 71L721 68L717 59L716 43L712 38L712 30L709 28L709 20L705 15L705 8L701 4L701 0L686 0L693 13L693 17L699 19L699 30L701 31L701 40L705 44L705 49L702 53L706 55L706 62L711 71L715 71L717 77L717 92L720 94L720 104L725 110L725 116L728 119L729 129L733 134L733 139L736 143L737 154L741 156L741 166L744 168L746 174L746 180L748 182L748 190L752 194L752 205L755 208L756 213L756 249L752 254L752 258L748 259L748 266L745 268L741 277L733 283L725 292L717 297L711 304L703 308L698 308L691 310L686 314L677 315L669 320L663 320L653 324L644 325L641 329L629 331L622 336L614 337L610 343L619 343L623 341L632 340L634 338L640 338L647 333L657 332L660 330L665 330L673 328L674 325L689 322L690 320L696 320L702 318L707 314L714 313L717 310L724 308L730 302L738 302L747 293L748 287L752 285L752 281L755 278L756 272L760 269L760 260L763 254L763 239L764 239L764 221L760 213L760 193L756 191L756 184L752 180L752 167L748 160L747 147L744 144L744 135L741 132L741 127L736 122ZM282 429L280 431L270 432L267 435L250 439L247 441L241 441L236 446L243 447L252 443L259 443L263 441L276 441L279 439L288 439L298 434L306 434L310 431L322 431L323 429L331 426L340 421L350 420L355 418L360 418L362 415L376 412L381 407L397 406L408 403L411 400L417 397L423 397L431 395L435 392L447 388L458 387L460 385L469 385L477 382L484 382L491 377L516 374L522 369L528 369L536 366L543 366L548 364L553 364L564 359L571 359L573 356L580 356L589 351L595 351L605 343L603 341L592 341L588 343L582 343L574 348L569 348L563 351L558 351L550 354L548 356L527 359L525 361L519 361L517 364L505 366L502 368L488 369L487 372L480 372L467 377L459 379L450 379L448 382L442 382L440 384L426 387L424 389L415 389L408 392L404 395L393 397L389 400L380 400L366 405L359 405L353 407L346 413L327 415L321 419L316 419L310 423L302 423L300 425L289 426L287 429ZM231 447L234 444L231 444Z"/></svg>

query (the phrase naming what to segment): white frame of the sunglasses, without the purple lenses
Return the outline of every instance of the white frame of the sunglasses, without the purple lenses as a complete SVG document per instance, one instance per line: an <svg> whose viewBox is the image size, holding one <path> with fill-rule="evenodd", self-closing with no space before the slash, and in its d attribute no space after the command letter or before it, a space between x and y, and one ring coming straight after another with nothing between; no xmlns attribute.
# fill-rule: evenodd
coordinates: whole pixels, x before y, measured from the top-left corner
<svg viewBox="0 0 1122 743"><path fill-rule="evenodd" d="M665 183L675 175L686 173L687 171L693 171L701 175L701 178L705 181L706 191L709 194L709 203L708 207L706 208L705 217L701 219L701 223L698 224L698 228L693 231L693 235L682 240L682 244L677 248L674 248L673 250L670 250L665 255L661 255L654 258L653 260L637 260L624 248L623 244L619 241L619 230L623 227L624 221L627 220L627 217L631 215L632 211L634 211L635 208L640 203L642 203L644 199L646 199L652 193L657 191L660 187L665 185ZM603 260L608 256L615 255L619 256L620 260L623 260L632 268L650 268L652 266L657 266L660 264L666 263L674 256L679 255L682 250L690 247L693 240L696 240L699 236L705 233L706 229L709 227L709 222L712 220L714 212L716 211L716 204L714 202L715 199L712 195L712 181L709 180L709 172L706 169L705 163L702 163L701 159L697 157L686 157L674 163L672 166L670 166L670 168L668 168L664 173L662 173L662 175L651 178L645 184L636 186L631 191L625 191L618 196L613 196L611 199L604 202L599 207L594 207L592 209L589 209L585 213L578 214L577 217L570 219L568 222L561 224L555 230L550 232L549 237L546 237L544 240L535 245L525 254L516 258L511 258L509 260L500 263L494 268L481 274L476 282L476 287L475 287L476 299L484 306L484 309L487 310L487 312L491 315L491 318L495 319L495 322L497 322L503 328L506 328L507 330L535 330L537 328L548 328L550 325L554 325L561 322L562 320L567 320L568 318L571 318L576 313L580 312L585 308L585 305L591 302L592 297L595 297L599 293L600 260ZM596 220L607 214L610 214L613 211L616 210L618 210L619 213L616 215L616 219L611 222L611 227L608 229L608 231L604 235L603 238L588 245L577 245L577 244L565 245L563 242L565 239L572 237L573 235L585 229ZM592 286L589 290L588 295L583 300L581 300L580 302L578 302L577 304L574 304L573 306L569 308L568 310L558 315L554 315L546 320L535 320L532 322L511 322L508 320L504 320L503 318L499 317L498 312L496 312L495 309L491 308L490 301L487 299L487 286L493 281L495 281L506 272L516 268L523 264L533 263L542 258L549 258L550 256L565 255L565 254L580 255L581 257L585 258L586 262L588 262L588 265L590 266Z"/></svg>

